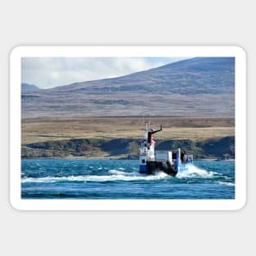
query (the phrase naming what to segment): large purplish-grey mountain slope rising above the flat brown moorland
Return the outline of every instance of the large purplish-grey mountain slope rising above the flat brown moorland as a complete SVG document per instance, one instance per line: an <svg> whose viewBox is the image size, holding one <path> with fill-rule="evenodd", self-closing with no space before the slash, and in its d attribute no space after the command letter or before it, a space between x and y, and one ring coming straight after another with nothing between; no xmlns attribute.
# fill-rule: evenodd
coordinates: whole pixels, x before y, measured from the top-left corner
<svg viewBox="0 0 256 256"><path fill-rule="evenodd" d="M232 117L235 58L196 57L115 79L25 92L22 115Z"/></svg>

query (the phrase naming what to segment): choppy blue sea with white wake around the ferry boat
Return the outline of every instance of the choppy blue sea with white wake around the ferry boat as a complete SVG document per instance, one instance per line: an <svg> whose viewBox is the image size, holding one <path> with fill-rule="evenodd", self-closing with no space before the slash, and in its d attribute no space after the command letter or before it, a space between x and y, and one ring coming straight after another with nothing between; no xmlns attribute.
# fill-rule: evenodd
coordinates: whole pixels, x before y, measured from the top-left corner
<svg viewBox="0 0 256 256"><path fill-rule="evenodd" d="M170 177L138 160L23 159L22 199L235 199L235 162L197 161Z"/></svg>

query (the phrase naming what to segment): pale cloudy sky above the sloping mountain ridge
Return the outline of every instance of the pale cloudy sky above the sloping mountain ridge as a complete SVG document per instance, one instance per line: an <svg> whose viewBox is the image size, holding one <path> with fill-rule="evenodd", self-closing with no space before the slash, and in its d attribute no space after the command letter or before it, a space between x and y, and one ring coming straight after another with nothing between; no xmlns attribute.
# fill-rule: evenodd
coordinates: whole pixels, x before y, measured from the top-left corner
<svg viewBox="0 0 256 256"><path fill-rule="evenodd" d="M172 57L23 57L21 82L39 88L109 79L180 61Z"/></svg>

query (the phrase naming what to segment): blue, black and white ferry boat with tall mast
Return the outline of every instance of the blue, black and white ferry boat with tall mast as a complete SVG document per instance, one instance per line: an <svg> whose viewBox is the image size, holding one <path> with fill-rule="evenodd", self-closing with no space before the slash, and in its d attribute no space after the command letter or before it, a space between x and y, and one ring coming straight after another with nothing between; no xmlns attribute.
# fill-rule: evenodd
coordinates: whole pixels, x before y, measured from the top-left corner
<svg viewBox="0 0 256 256"><path fill-rule="evenodd" d="M140 148L140 168L142 174L156 174L162 171L168 175L176 176L188 170L193 164L193 155L186 155L186 151L177 148L177 150L155 150L155 141L153 134L163 130L162 124L158 130L150 128L150 122L146 122L145 135L141 141Z"/></svg>

